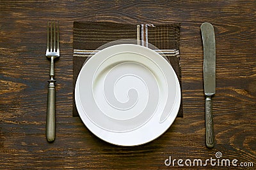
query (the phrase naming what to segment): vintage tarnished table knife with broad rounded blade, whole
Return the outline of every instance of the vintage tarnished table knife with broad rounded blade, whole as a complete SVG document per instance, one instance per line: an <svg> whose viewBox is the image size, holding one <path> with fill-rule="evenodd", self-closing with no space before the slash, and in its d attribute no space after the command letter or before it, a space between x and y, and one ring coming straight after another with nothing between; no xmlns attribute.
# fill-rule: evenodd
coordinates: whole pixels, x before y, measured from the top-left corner
<svg viewBox="0 0 256 170"><path fill-rule="evenodd" d="M205 144L214 147L212 99L215 94L216 50L212 24L205 22L200 27L204 46L204 94L205 94Z"/></svg>

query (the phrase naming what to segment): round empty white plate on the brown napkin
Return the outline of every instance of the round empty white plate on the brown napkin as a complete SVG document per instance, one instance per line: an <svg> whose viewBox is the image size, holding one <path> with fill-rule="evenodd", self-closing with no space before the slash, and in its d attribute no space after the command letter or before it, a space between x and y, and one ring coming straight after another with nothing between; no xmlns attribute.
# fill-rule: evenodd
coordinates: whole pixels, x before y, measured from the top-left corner
<svg viewBox="0 0 256 170"><path fill-rule="evenodd" d="M156 139L172 125L180 85L159 53L140 45L114 45L84 64L75 100L93 134L115 145L135 146Z"/></svg>

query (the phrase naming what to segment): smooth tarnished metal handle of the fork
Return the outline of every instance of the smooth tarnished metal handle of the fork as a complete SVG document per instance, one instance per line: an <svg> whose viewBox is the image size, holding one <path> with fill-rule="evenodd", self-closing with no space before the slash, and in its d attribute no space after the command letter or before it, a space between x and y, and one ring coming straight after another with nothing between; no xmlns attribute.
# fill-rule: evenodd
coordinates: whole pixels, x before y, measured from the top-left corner
<svg viewBox="0 0 256 170"><path fill-rule="evenodd" d="M48 82L46 138L52 142L55 139L55 80L52 77Z"/></svg>

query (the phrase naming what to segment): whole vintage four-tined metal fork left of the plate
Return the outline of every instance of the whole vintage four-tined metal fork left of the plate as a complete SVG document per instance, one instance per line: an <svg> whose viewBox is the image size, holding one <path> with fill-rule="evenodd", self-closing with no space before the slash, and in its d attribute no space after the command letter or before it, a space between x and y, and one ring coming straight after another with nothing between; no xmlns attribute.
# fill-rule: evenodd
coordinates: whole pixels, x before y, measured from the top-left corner
<svg viewBox="0 0 256 170"><path fill-rule="evenodd" d="M46 57L51 59L50 80L48 80L46 138L52 142L55 139L55 81L54 59L60 57L59 21L49 21L47 24Z"/></svg>

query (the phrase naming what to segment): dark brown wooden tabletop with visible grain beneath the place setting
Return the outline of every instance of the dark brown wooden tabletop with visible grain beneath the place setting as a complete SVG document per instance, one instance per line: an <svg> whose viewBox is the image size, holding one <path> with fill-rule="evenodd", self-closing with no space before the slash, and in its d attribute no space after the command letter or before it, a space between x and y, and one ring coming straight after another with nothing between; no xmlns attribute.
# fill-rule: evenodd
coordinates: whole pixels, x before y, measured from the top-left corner
<svg viewBox="0 0 256 170"><path fill-rule="evenodd" d="M255 1L1 0L1 169L243 169L256 166ZM49 60L47 20L60 20L56 62L56 141L45 139ZM110 145L72 117L72 27L77 21L179 22L184 117L163 136L136 147ZM205 147L200 25L216 33L215 146ZM237 159L237 167L186 166L186 159ZM184 166L177 160L182 159ZM203 162L203 163L204 163ZM217 162L217 160L216 160ZM243 163L244 164L240 164ZM168 161L166 162L168 163ZM188 163L188 162L187 162ZM247 164L246 164L247 163ZM225 165L225 164L223 164ZM253 167L247 167L253 169Z"/></svg>

